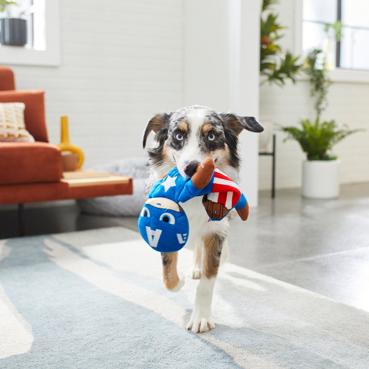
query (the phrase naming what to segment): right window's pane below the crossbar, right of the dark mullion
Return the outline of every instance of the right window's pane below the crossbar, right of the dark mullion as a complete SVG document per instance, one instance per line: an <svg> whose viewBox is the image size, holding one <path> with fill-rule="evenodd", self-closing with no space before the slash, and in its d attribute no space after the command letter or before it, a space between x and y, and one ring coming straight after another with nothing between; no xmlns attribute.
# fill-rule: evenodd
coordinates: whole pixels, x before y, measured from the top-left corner
<svg viewBox="0 0 369 369"><path fill-rule="evenodd" d="M341 68L369 69L369 31L344 27L341 38Z"/></svg>

